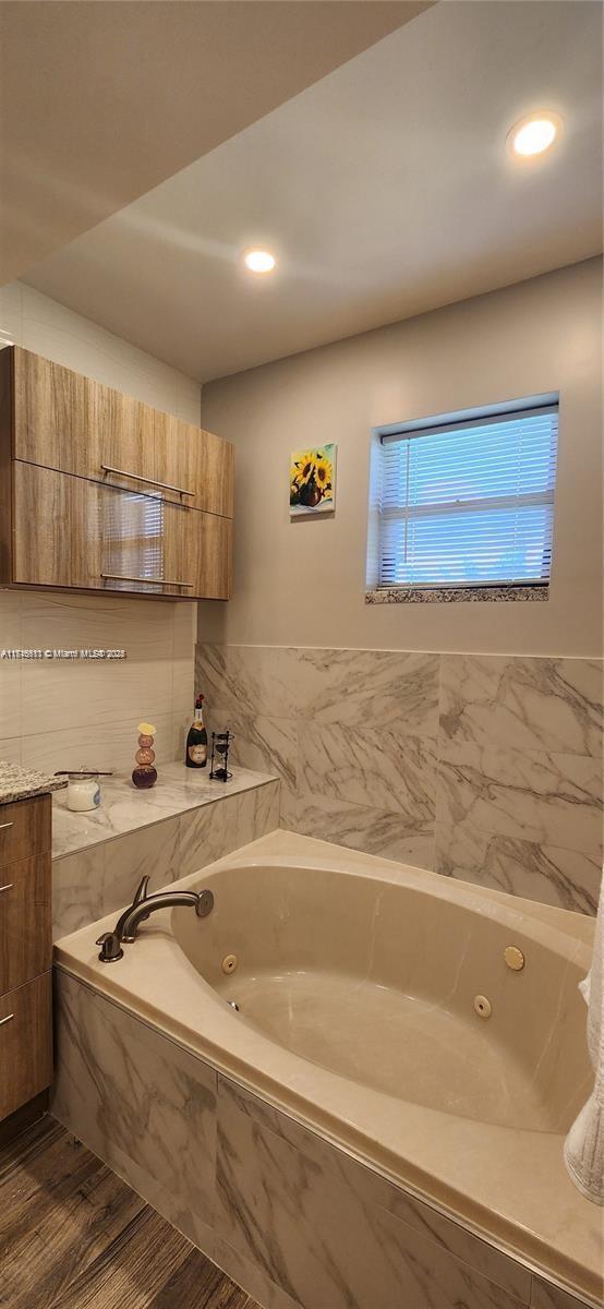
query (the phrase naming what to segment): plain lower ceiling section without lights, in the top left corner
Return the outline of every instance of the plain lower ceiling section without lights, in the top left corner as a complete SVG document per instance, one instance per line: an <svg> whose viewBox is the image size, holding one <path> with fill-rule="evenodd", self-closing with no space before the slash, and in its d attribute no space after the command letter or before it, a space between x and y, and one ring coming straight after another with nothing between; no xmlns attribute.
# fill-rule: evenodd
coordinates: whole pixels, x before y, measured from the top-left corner
<svg viewBox="0 0 604 1309"><path fill-rule="evenodd" d="M0 281L431 0L3 0Z"/></svg>

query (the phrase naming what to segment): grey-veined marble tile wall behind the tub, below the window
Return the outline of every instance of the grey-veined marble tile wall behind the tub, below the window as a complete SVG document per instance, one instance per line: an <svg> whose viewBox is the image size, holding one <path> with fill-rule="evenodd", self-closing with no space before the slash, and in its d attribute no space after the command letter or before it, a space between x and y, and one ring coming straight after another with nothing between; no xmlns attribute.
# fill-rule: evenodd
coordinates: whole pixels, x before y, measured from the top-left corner
<svg viewBox="0 0 604 1309"><path fill-rule="evenodd" d="M199 645L208 724L305 835L594 914L603 665Z"/></svg>

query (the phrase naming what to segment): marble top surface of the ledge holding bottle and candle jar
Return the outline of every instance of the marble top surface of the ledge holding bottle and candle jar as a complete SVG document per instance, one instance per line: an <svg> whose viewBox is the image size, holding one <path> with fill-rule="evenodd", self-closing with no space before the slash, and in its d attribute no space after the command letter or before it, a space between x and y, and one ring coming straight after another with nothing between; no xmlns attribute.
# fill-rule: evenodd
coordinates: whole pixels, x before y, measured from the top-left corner
<svg viewBox="0 0 604 1309"><path fill-rule="evenodd" d="M275 774L233 768L230 781L210 781L209 768L197 771L186 768L183 763L167 763L158 768L156 785L149 791L137 791L129 774L102 778L98 809L73 813L67 808L67 793L55 796L52 857L72 855L77 850L173 818L187 809L210 805L225 796L252 791L276 780Z"/></svg>

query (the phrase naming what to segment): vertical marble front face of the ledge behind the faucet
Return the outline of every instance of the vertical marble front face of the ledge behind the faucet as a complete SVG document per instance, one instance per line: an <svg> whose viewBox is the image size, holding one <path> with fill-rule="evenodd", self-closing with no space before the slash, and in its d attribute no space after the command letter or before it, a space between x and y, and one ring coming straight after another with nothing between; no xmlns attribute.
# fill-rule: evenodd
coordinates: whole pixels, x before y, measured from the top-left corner
<svg viewBox="0 0 604 1309"><path fill-rule="evenodd" d="M158 890L275 831L278 791L278 781L267 781L55 857L54 940L123 908L145 874L152 880L150 890Z"/></svg>

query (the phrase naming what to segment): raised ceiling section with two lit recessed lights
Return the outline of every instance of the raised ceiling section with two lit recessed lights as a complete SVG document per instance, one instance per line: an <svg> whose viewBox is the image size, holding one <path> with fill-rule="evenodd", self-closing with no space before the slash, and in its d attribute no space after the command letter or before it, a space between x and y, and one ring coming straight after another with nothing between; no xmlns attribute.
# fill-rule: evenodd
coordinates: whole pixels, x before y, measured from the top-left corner
<svg viewBox="0 0 604 1309"><path fill-rule="evenodd" d="M596 254L601 16L437 4L26 280L204 381ZM565 132L520 165L535 109Z"/></svg>

